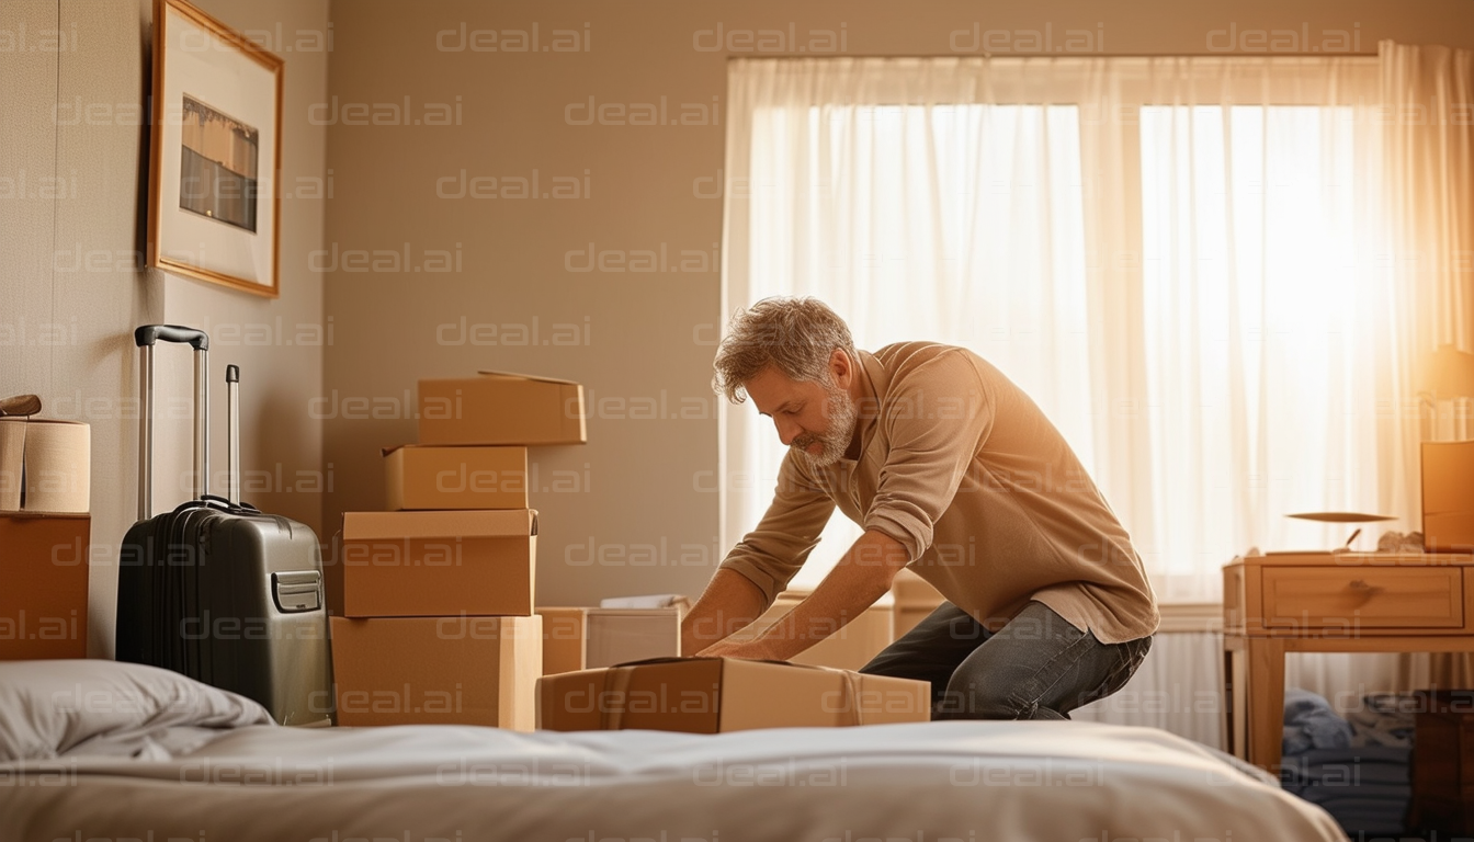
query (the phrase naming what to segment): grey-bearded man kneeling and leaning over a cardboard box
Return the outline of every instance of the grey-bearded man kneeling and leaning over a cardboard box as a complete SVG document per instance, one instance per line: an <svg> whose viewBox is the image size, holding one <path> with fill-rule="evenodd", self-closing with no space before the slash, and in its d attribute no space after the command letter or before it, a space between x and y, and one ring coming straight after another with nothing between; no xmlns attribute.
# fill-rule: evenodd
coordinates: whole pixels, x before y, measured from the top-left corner
<svg viewBox="0 0 1474 842"><path fill-rule="evenodd" d="M814 298L738 313L715 385L750 397L789 453L772 506L682 624L682 652L787 661L858 616L905 566L946 603L861 671L932 683L933 718L1069 718L1131 678L1157 628L1131 538L1038 406L979 355L856 351ZM865 534L762 636L836 506Z"/></svg>

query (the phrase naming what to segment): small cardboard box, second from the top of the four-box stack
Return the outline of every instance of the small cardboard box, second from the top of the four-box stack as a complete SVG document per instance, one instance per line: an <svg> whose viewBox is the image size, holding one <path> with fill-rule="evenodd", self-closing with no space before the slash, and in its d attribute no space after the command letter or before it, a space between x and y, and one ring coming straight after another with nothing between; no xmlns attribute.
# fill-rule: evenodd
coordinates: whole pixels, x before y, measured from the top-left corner
<svg viewBox="0 0 1474 842"><path fill-rule="evenodd" d="M383 451L391 510L526 509L528 448L405 444Z"/></svg>

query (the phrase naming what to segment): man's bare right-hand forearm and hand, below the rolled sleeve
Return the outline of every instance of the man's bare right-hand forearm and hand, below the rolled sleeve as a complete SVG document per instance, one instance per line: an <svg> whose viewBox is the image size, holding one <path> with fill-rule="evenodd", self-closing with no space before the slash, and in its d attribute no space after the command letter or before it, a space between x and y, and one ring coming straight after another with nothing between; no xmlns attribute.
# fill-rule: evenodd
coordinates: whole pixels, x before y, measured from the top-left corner
<svg viewBox="0 0 1474 842"><path fill-rule="evenodd" d="M901 541L876 529L867 531L814 593L764 634L744 643L715 643L700 655L787 661L834 634L874 605L890 590L892 580L907 560L907 550ZM682 652L687 652L684 646Z"/></svg>

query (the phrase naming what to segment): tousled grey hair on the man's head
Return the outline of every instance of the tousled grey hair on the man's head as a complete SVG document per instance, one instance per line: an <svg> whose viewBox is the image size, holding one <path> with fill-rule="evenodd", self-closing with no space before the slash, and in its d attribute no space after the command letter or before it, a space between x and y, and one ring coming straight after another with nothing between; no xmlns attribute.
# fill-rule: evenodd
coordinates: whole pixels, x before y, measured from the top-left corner
<svg viewBox="0 0 1474 842"><path fill-rule="evenodd" d="M738 310L716 348L712 386L740 404L747 380L775 366L793 380L830 380L828 361L839 348L855 358L849 326L818 298L764 298Z"/></svg>

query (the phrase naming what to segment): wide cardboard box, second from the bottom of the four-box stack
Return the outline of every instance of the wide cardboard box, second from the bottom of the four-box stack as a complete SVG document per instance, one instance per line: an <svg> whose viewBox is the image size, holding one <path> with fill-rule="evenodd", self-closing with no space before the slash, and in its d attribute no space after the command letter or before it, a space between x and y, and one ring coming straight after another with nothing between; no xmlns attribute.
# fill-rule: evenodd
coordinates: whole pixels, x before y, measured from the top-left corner
<svg viewBox="0 0 1474 842"><path fill-rule="evenodd" d="M532 613L538 513L345 512L327 610L339 616Z"/></svg>

